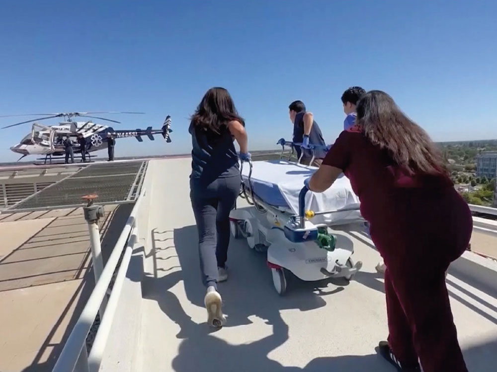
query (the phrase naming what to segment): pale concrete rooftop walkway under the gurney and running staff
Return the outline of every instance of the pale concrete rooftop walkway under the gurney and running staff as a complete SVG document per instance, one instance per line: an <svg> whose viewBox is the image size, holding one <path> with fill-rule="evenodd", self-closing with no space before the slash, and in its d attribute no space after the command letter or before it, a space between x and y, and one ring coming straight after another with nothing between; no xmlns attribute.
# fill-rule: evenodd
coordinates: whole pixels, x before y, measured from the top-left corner
<svg viewBox="0 0 497 372"><path fill-rule="evenodd" d="M232 240L230 278L219 286L228 323L216 332L207 327L189 203L190 161L149 165L153 203L142 285L140 371L393 371L374 351L388 333L383 278L374 269L380 256L358 232L347 232L354 260L364 263L352 282L293 280L285 297L276 294L264 255L244 240ZM497 364L496 293L476 288L455 267L447 284L469 370L492 371Z"/></svg>

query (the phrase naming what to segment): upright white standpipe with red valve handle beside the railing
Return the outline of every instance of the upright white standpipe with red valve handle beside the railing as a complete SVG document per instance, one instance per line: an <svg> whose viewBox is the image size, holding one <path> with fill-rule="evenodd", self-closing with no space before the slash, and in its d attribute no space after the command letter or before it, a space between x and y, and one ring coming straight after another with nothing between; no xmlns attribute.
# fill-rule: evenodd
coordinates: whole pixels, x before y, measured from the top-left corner
<svg viewBox="0 0 497 372"><path fill-rule="evenodd" d="M98 228L98 220L104 216L103 206L93 204L93 200L97 195L85 195L84 200L88 201L88 205L83 208L84 219L88 224L88 232L90 234L91 260L93 262L93 274L95 275L95 285L103 271L102 248L100 246L100 230ZM107 298L104 297L100 305L100 318L103 317L103 312L107 305Z"/></svg>

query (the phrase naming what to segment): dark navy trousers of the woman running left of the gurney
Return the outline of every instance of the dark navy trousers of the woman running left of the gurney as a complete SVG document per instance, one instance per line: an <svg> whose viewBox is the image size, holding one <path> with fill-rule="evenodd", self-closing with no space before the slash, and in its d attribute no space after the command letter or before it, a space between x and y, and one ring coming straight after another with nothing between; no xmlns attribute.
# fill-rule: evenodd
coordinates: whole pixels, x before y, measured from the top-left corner
<svg viewBox="0 0 497 372"><path fill-rule="evenodd" d="M203 185L190 180L190 199L197 223L202 283L217 288L218 267L224 267L230 244L230 211L240 192L240 177Z"/></svg>

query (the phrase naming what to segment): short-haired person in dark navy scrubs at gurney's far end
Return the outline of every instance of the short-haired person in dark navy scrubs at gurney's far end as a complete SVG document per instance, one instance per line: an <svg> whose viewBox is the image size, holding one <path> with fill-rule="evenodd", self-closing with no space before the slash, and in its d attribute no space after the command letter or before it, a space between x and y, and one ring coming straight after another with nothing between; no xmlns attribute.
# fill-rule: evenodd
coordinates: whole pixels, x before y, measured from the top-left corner
<svg viewBox="0 0 497 372"><path fill-rule="evenodd" d="M321 129L314 121L314 116L310 112L306 112L306 106L302 101L294 101L288 107L290 109L290 121L293 123L293 142L302 143L302 149L295 146L297 155L301 163L305 165L313 165L319 167L326 156L325 149L311 150L309 144L325 146L325 140ZM310 164L314 151L314 161Z"/></svg>

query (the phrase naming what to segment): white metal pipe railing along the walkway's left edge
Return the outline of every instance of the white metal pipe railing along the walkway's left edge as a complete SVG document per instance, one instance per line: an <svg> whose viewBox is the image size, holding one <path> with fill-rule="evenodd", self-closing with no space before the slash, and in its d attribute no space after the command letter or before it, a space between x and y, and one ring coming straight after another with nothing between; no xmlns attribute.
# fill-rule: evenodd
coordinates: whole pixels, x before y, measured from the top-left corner
<svg viewBox="0 0 497 372"><path fill-rule="evenodd" d="M146 190L143 188L52 372L97 372L99 370L103 350L109 336L112 320L117 308L126 271L129 266L131 253L135 243L138 241L137 214L145 195ZM101 322L88 355L86 350L86 337L93 325L93 321L95 320L102 302L106 299L107 288L109 287L114 271L119 263L123 249L125 249L125 251L121 260L121 265L117 271L110 297L105 306L105 311L103 314L100 314Z"/></svg>

